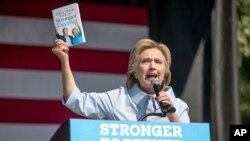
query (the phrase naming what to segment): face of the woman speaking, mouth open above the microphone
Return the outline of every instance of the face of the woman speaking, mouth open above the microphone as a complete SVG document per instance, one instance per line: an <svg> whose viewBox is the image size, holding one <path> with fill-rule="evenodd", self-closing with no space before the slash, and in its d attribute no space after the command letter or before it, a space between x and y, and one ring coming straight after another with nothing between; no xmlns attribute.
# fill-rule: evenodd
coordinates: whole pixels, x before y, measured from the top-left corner
<svg viewBox="0 0 250 141"><path fill-rule="evenodd" d="M139 59L139 65L135 72L135 77L140 83L140 88L149 94L154 93L151 80L157 78L160 83L164 80L166 71L165 57L156 48L144 50Z"/></svg>

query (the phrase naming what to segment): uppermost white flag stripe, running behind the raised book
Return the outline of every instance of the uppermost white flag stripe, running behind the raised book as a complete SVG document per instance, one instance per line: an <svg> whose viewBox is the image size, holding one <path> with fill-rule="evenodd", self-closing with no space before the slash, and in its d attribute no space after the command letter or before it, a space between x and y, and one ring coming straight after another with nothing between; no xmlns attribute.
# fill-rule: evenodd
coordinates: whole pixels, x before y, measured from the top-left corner
<svg viewBox="0 0 250 141"><path fill-rule="evenodd" d="M0 16L0 43L51 47L55 39L52 19ZM84 47L129 51L134 43L148 37L148 27L83 20Z"/></svg>

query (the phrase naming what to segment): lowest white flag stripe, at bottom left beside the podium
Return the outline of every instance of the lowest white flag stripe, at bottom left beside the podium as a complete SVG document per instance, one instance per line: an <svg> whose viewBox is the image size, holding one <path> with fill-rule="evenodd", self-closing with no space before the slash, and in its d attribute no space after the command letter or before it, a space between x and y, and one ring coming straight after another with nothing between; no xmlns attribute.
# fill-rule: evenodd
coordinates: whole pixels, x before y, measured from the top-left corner
<svg viewBox="0 0 250 141"><path fill-rule="evenodd" d="M1 141L48 141L57 124L0 124Z"/></svg>

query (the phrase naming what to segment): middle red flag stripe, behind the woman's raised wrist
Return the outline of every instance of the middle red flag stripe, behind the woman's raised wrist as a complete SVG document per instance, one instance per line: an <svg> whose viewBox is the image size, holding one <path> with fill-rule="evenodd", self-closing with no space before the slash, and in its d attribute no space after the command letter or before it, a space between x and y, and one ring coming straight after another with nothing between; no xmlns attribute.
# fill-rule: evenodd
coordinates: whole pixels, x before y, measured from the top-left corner
<svg viewBox="0 0 250 141"><path fill-rule="evenodd" d="M49 47L0 44L0 68L60 70L60 62ZM129 52L70 49L73 71L126 74Z"/></svg>

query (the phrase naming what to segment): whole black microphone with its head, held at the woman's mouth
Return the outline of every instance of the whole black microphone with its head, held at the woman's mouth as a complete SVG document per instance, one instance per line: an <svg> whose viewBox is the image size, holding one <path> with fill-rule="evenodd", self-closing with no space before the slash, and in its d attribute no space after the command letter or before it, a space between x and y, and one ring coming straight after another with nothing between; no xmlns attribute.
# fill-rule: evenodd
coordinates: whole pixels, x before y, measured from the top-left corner
<svg viewBox="0 0 250 141"><path fill-rule="evenodd" d="M151 80L151 85L154 88L156 97L159 96L159 93L161 91L160 82L158 79ZM174 113L176 111L175 107L171 106L170 104L164 104L162 102L159 102L161 111L166 115L167 113Z"/></svg>

